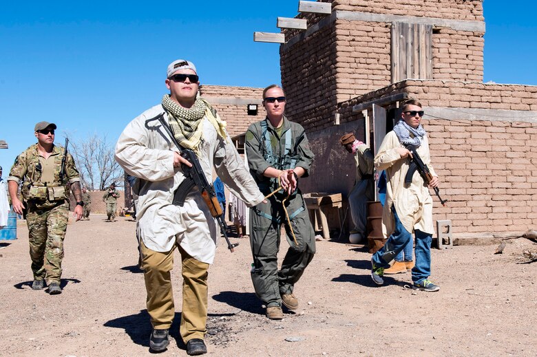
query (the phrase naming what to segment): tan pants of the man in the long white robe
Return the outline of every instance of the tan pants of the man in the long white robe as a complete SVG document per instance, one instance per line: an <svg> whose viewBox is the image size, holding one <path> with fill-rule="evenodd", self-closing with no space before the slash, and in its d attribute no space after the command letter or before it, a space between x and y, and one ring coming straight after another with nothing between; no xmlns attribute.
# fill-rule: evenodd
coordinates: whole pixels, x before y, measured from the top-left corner
<svg viewBox="0 0 537 357"><path fill-rule="evenodd" d="M209 264L191 257L178 244L181 254L182 312L180 334L187 343L192 338L204 338L207 333L207 277ZM147 290L147 312L154 329L169 329L175 307L171 287L173 252L155 252L140 239L142 269Z"/></svg>

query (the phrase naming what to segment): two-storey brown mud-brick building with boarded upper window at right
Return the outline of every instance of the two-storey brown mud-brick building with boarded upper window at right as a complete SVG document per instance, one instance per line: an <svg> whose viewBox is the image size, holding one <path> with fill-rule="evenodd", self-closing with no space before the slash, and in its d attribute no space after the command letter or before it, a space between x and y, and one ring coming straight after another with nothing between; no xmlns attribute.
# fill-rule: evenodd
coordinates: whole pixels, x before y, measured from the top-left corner
<svg viewBox="0 0 537 357"><path fill-rule="evenodd" d="M423 104L432 165L459 237L537 226L537 87L483 83L481 0L334 0L299 14L280 45L288 118L308 133L315 162L304 192L348 193L355 168L338 142L353 131L373 151Z"/></svg>

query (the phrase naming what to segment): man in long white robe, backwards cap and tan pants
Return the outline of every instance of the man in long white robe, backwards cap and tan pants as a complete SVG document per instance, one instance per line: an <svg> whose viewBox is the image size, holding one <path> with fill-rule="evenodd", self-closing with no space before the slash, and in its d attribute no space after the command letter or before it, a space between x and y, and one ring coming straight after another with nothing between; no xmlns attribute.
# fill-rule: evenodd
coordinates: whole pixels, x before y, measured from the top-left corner
<svg viewBox="0 0 537 357"><path fill-rule="evenodd" d="M182 147L196 152L208 182L212 171L229 191L248 206L264 200L225 131L225 122L203 98L199 98L199 77L190 61L173 61L167 69L170 94L132 120L116 144L116 160L127 174L136 178L136 218L142 268L147 290L147 311L153 332L150 347L166 349L168 330L175 310L170 270L177 248L182 261L182 312L180 334L189 355L207 353L207 277L213 263L217 238L215 219L197 188L187 195L183 206L172 204L173 194L185 180L181 165L191 164L158 120L164 120ZM152 119L152 120L151 120Z"/></svg>

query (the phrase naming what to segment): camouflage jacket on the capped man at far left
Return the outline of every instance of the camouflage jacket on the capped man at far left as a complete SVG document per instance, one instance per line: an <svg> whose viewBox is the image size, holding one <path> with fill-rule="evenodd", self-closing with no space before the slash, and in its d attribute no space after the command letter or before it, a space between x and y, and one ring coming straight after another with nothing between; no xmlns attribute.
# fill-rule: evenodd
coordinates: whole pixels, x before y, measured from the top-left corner
<svg viewBox="0 0 537 357"><path fill-rule="evenodd" d="M69 186L73 182L79 182L80 176L76 170L74 159L70 153L67 153L65 159L65 173L63 182L61 182L61 160L63 158L63 147L54 145L52 148L51 158L54 159L53 182L41 182L43 168L40 162L37 144L33 144L23 151L17 158L11 168L8 181L22 183L21 193L23 199L27 202L36 204L38 208L48 208L55 206L58 201L65 200L69 195ZM50 158L49 158L50 160Z"/></svg>

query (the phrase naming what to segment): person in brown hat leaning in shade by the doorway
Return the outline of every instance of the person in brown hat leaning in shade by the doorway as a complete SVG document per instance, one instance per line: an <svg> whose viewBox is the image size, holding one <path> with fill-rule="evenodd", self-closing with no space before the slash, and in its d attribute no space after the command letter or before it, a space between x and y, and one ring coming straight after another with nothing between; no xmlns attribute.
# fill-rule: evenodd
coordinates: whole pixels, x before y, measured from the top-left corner
<svg viewBox="0 0 537 357"><path fill-rule="evenodd" d="M374 158L369 147L360 140L356 140L353 133L341 136L339 142L355 158L356 180L355 185L348 194L348 204L350 205L352 222L355 224L355 228L350 231L350 235L354 235L354 240L358 243L367 234L367 202L375 199Z"/></svg>

